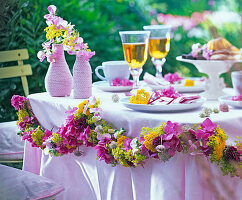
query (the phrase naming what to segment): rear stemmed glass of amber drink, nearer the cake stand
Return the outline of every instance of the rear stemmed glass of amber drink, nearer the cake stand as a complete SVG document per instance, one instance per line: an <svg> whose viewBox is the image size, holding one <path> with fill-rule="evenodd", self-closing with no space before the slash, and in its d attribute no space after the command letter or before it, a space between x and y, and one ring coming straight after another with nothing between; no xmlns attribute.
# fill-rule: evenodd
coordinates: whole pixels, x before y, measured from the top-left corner
<svg viewBox="0 0 242 200"><path fill-rule="evenodd" d="M167 25L150 25L143 28L150 31L149 54L156 68L156 77L162 78L162 66L166 62L165 57L170 50L171 27Z"/></svg>

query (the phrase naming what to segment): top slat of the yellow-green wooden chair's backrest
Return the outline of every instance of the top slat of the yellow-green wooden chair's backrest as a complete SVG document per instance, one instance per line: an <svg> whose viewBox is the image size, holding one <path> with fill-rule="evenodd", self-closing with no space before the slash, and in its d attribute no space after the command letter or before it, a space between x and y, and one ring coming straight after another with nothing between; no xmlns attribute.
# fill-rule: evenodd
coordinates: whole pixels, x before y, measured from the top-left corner
<svg viewBox="0 0 242 200"><path fill-rule="evenodd" d="M18 49L18 50L0 52L0 62L11 62L11 61L27 60L27 59L29 59L29 54L27 49Z"/></svg>

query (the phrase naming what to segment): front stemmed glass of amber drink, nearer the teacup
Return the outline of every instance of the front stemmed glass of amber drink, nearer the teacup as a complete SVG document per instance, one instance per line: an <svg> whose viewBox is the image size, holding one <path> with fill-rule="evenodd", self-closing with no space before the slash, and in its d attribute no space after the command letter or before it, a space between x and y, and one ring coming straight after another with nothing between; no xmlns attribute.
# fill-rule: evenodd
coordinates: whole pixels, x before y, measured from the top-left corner
<svg viewBox="0 0 242 200"><path fill-rule="evenodd" d="M129 65L133 77L133 91L139 88L139 76L148 58L148 43L150 31L120 31L119 32L124 58Z"/></svg>

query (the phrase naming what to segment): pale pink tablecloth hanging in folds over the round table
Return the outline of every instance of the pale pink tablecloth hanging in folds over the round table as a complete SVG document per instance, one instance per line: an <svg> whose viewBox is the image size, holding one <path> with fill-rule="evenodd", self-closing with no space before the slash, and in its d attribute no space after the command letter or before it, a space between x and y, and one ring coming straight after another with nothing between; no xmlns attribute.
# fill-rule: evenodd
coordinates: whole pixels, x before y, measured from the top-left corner
<svg viewBox="0 0 242 200"><path fill-rule="evenodd" d="M155 127L162 121L171 120L183 124L201 123L201 108L179 113L141 113L125 108L122 104L113 103L112 93L94 91L94 95L102 101L102 117L115 125L125 128L128 136L137 136L143 126ZM120 97L123 94L119 94ZM55 130L65 118L65 110L77 106L81 100L71 97L55 98L47 93L29 96L31 106L41 125ZM214 108L218 102L205 104ZM241 135L242 112L231 108L228 113L211 115L210 119L220 124L231 139ZM213 171L207 171L196 157L177 154L170 161L162 163L149 160L144 168L111 167L96 159L91 148L82 147L84 155L73 154L62 157L50 157L32 148L26 143L24 170L39 173L65 186L60 199L97 199L97 200L212 200L218 199L216 194L225 199L240 199L242 181L230 176L223 177L220 170L210 165ZM225 187L223 186L225 184Z"/></svg>

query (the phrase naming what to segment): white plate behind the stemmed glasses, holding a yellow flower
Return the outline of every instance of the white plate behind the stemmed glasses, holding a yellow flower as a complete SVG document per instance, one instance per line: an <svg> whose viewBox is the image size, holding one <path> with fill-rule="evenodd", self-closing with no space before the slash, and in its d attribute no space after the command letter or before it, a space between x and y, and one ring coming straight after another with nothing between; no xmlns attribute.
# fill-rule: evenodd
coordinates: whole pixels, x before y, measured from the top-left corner
<svg viewBox="0 0 242 200"><path fill-rule="evenodd" d="M186 79L193 80L194 86L184 86ZM201 78L199 77L186 77L181 80L181 83L179 84L171 84L168 86L147 84L147 86L149 86L152 90L163 90L168 86L172 86L178 92L202 92L205 89L205 81L201 81Z"/></svg>

